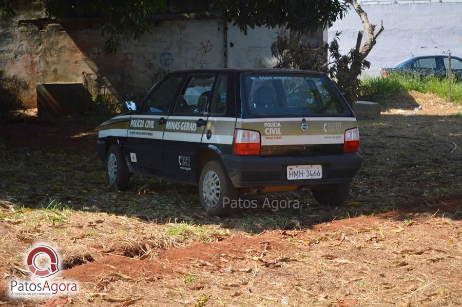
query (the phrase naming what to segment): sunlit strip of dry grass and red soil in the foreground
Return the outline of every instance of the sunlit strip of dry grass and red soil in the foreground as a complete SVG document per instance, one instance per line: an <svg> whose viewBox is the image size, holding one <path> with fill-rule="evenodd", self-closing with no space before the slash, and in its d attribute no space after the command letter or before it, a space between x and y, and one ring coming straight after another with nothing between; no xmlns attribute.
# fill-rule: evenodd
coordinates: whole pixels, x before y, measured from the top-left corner
<svg viewBox="0 0 462 307"><path fill-rule="evenodd" d="M27 222L35 214L21 218ZM284 300L290 305L462 303L462 229L460 221L440 214L416 213L402 221L354 218L324 229L250 237L188 226L188 239L178 232L181 224L146 224L104 213L71 211L59 225L17 221L2 223L7 234L2 242L9 244L0 257L6 259L7 276L21 276L16 267L29 240L53 242L63 262L73 266L61 276L81 281L74 304L190 305L204 297L209 304L263 306Z"/></svg>

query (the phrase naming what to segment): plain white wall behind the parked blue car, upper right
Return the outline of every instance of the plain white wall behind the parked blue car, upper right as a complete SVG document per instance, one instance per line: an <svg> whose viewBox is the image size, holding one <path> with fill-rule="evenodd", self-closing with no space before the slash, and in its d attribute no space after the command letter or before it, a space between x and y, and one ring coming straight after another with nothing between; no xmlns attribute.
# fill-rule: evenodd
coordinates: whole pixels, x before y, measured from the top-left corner
<svg viewBox="0 0 462 307"><path fill-rule="evenodd" d="M462 56L462 3L432 4L362 4L371 23L385 30L367 57L371 68L364 74L379 74L380 67L390 67L414 55L442 54L451 49ZM379 26L378 26L379 27ZM340 48L347 52L356 45L361 20L351 11L329 29L332 39L340 34Z"/></svg>

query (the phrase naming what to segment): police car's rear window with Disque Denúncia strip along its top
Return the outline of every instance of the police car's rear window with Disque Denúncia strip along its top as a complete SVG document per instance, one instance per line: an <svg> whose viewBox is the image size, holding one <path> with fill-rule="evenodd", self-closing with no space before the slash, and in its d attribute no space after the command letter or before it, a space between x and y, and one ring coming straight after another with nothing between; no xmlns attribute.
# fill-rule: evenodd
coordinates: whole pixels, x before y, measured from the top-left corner
<svg viewBox="0 0 462 307"><path fill-rule="evenodd" d="M350 109L335 93L332 82L324 76L247 75L246 102L251 114L261 116L347 116Z"/></svg>

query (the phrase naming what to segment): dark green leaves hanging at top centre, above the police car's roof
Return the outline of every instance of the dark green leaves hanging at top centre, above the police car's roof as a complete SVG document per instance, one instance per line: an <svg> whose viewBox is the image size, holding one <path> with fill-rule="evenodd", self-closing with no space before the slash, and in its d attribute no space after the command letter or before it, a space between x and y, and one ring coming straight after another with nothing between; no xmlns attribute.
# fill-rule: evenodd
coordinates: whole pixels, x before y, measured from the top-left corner
<svg viewBox="0 0 462 307"><path fill-rule="evenodd" d="M215 0L215 6L247 34L247 27L286 26L295 31L332 27L349 4L340 0Z"/></svg>

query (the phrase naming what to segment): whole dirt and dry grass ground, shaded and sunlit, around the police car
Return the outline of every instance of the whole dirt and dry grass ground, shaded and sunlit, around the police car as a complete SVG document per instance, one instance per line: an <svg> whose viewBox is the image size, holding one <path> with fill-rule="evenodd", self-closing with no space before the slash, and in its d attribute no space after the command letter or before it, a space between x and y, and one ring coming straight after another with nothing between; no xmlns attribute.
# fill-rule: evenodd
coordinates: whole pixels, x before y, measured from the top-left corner
<svg viewBox="0 0 462 307"><path fill-rule="evenodd" d="M462 305L460 112L395 94L381 119L359 121L364 161L344 205L320 206L309 190L248 194L260 206L226 219L202 212L195 186L142 176L123 193L107 186L90 122L4 126L0 304ZM274 211L266 198L301 205ZM54 276L80 294L9 299L37 242L56 248Z"/></svg>

